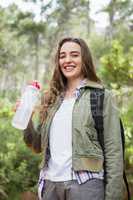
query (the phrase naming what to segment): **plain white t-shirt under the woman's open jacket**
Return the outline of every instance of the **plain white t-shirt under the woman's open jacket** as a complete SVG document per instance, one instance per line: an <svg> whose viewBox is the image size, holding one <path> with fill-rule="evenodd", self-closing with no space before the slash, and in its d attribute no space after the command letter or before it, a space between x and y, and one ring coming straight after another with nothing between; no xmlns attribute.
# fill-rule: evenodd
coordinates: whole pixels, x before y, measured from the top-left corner
<svg viewBox="0 0 133 200"><path fill-rule="evenodd" d="M52 120L49 136L51 157L45 171L45 179L51 181L72 179L72 110L74 103L75 98L64 99Z"/></svg>

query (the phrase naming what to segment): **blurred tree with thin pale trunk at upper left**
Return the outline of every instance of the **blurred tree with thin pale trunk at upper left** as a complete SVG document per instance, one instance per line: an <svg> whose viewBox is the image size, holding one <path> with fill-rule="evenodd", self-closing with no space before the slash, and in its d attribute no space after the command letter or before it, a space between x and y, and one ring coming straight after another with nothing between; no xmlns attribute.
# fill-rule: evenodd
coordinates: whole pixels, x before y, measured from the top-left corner
<svg viewBox="0 0 133 200"><path fill-rule="evenodd" d="M16 9L14 7L11 10ZM11 14L11 13L10 13ZM45 32L44 22L35 22L34 15L31 13L22 13L20 11L16 12L15 17L12 18L12 23L9 24L11 31L16 31L16 37L27 37L27 42L29 44L30 55L35 58L34 63L34 79L39 77L39 48L40 48L40 38Z"/></svg>

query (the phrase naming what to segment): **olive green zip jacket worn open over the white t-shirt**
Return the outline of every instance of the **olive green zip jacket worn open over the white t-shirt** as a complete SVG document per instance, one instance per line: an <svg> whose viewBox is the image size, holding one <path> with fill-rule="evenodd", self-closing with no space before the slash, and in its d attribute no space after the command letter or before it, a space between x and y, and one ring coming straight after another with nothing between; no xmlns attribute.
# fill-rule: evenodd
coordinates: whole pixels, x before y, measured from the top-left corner
<svg viewBox="0 0 133 200"><path fill-rule="evenodd" d="M104 96L104 146L105 155L98 141L97 132L91 114L90 87L103 86L88 81L80 88L72 113L72 167L77 170L98 172L103 169L106 160L105 200L122 200L123 196L123 154L118 109L110 91ZM58 97L48 111L48 117L40 129L41 146L44 151L43 167L46 166L48 136L54 114L62 103Z"/></svg>

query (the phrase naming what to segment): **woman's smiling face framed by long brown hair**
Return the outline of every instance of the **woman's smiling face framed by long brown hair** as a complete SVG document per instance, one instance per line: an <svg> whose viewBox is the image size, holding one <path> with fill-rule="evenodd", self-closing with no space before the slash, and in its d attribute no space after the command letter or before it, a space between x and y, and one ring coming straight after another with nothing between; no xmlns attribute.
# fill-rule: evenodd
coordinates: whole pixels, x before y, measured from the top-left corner
<svg viewBox="0 0 133 200"><path fill-rule="evenodd" d="M81 47L75 42L65 42L59 55L59 66L67 80L82 79Z"/></svg>

